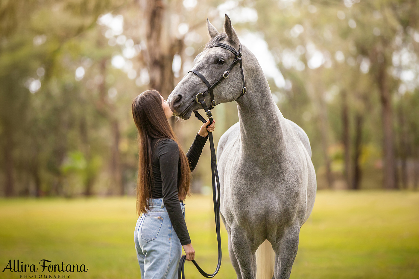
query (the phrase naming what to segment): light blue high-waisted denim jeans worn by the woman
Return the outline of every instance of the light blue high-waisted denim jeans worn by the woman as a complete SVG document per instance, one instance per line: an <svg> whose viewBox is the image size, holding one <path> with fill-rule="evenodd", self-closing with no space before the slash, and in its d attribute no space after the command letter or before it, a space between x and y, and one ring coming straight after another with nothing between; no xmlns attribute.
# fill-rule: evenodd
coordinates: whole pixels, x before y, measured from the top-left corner
<svg viewBox="0 0 419 279"><path fill-rule="evenodd" d="M185 217L185 204L181 204ZM163 199L149 199L150 210L138 217L134 242L142 279L176 279L182 245Z"/></svg>

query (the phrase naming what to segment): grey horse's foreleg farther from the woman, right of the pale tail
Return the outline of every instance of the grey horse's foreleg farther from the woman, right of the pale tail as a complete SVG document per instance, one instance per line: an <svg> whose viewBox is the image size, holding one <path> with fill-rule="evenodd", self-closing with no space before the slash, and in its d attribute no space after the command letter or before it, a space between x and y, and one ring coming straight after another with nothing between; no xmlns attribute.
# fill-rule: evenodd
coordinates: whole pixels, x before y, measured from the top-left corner
<svg viewBox="0 0 419 279"><path fill-rule="evenodd" d="M300 225L287 227L285 232L279 235L277 242L272 243L275 251L275 279L290 278L292 264L298 250L298 239L300 235Z"/></svg>

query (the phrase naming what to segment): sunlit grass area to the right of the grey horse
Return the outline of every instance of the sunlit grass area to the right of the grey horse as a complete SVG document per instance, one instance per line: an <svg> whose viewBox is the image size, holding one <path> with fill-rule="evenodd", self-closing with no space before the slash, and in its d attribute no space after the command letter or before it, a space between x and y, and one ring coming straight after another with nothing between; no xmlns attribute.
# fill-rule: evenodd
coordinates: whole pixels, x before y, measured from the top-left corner
<svg viewBox="0 0 419 279"><path fill-rule="evenodd" d="M419 193L319 192L291 278L419 278Z"/></svg>

